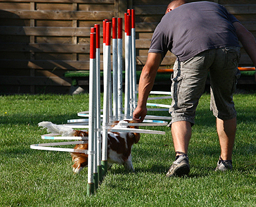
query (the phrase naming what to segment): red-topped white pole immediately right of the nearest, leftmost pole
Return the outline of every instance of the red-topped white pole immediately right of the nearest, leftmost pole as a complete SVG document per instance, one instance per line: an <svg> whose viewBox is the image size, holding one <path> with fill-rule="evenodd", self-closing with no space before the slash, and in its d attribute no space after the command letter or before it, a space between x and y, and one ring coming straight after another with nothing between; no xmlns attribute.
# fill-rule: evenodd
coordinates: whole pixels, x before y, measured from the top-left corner
<svg viewBox="0 0 256 207"><path fill-rule="evenodd" d="M98 181L102 181L102 168L101 168L101 132L100 132L100 24L95 23L94 27L96 28L96 123L95 128L98 130L95 132L95 136L97 137L96 146L97 146L97 172L98 172ZM95 183L97 188L97 183Z"/></svg>

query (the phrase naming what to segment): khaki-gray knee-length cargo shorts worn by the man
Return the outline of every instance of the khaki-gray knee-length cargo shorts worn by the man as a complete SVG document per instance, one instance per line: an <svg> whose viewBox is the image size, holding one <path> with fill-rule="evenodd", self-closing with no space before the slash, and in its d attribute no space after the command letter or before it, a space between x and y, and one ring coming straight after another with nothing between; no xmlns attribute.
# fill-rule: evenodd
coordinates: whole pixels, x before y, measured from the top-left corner
<svg viewBox="0 0 256 207"><path fill-rule="evenodd" d="M172 74L172 121L189 121L194 125L196 107L210 75L210 110L222 120L237 116L232 94L236 90L241 73L237 66L240 48L205 50L187 61L176 59Z"/></svg>

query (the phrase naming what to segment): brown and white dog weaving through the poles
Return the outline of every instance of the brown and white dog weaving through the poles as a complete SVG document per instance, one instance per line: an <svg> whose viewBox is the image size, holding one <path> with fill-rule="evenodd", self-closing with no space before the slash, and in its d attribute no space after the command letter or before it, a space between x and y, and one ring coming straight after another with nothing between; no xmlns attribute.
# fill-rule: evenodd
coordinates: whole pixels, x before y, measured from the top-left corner
<svg viewBox="0 0 256 207"><path fill-rule="evenodd" d="M138 128L137 126L122 126L122 123L135 123L134 120L115 121L111 128ZM42 121L38 124L47 128L48 132L58 133L62 136L88 137L88 132L73 130L70 127L60 126L50 121ZM140 140L140 134L134 132L108 132L107 137L107 164L110 168L113 164L120 164L126 170L134 171L131 161L131 148ZM88 144L77 144L74 149L88 150ZM88 155L81 152L71 152L73 172L79 173L88 164Z"/></svg>

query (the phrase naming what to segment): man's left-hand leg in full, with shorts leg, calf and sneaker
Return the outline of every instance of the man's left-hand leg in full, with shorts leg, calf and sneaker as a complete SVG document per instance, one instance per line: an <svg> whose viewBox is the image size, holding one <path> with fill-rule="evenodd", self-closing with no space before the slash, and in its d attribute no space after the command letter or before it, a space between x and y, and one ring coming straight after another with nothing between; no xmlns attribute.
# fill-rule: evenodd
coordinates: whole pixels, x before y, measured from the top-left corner
<svg viewBox="0 0 256 207"><path fill-rule="evenodd" d="M188 175L190 164L188 160L188 144L192 133L192 125L196 107L205 88L210 61L209 51L188 59L176 60L172 75L172 138L176 159L168 170L166 176ZM213 60L213 58L212 58ZM208 63L209 62L209 63Z"/></svg>

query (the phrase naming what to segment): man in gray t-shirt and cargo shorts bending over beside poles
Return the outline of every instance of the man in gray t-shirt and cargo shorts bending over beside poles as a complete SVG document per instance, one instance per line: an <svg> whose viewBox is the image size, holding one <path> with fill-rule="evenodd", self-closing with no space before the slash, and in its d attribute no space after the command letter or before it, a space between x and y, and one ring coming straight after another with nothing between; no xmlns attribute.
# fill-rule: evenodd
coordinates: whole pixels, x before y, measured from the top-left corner
<svg viewBox="0 0 256 207"><path fill-rule="evenodd" d="M140 75L138 106L133 118L143 121L147 115L147 97L167 50L177 59L172 75L170 127L176 159L167 177L188 175L188 145L194 125L196 106L210 72L211 110L217 118L221 155L216 170L232 169L237 113L232 93L239 78L239 41L256 66L256 43L253 34L223 6L210 1L187 3L174 0L156 27L147 62Z"/></svg>

